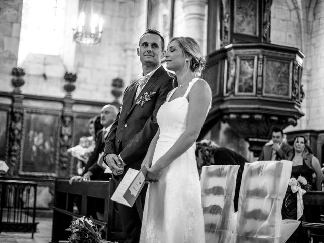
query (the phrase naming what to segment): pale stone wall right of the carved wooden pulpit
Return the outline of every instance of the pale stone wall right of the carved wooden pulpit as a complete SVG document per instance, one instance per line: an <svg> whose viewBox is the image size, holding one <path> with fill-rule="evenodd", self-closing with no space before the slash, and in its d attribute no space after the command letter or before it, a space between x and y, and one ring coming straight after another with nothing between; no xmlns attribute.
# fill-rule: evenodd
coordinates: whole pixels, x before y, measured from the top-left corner
<svg viewBox="0 0 324 243"><path fill-rule="evenodd" d="M271 8L271 43L293 46L305 54L302 84L305 113L296 127L323 129L324 124L324 1L273 1ZM315 4L314 4L315 3Z"/></svg>

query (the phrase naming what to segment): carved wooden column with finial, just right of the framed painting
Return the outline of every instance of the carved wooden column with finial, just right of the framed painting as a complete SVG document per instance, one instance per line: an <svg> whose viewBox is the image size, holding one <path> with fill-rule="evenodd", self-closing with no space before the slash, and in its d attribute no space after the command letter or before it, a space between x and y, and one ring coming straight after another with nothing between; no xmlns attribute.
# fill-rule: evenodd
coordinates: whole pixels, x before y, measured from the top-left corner
<svg viewBox="0 0 324 243"><path fill-rule="evenodd" d="M67 149L73 146L73 103L71 92L75 89L73 84L76 81L76 74L65 73L64 80L66 84L63 86L66 95L63 100L63 112L61 117L61 134L59 148L59 164L57 176L60 178L68 178L71 174L71 156Z"/></svg>

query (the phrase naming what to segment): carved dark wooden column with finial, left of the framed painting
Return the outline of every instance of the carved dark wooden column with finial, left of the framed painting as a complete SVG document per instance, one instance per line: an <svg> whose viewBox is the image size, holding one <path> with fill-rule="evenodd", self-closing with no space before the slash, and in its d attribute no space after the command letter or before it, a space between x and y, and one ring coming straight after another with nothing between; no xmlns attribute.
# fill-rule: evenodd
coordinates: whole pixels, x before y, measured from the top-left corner
<svg viewBox="0 0 324 243"><path fill-rule="evenodd" d="M19 161L21 154L22 143L22 122L24 119L24 96L21 94L20 87L24 85L25 81L22 78L25 72L22 68L14 67L11 74L11 84L14 86L12 94L12 107L10 113L10 130L9 130L9 151L8 151L8 175L18 176Z"/></svg>

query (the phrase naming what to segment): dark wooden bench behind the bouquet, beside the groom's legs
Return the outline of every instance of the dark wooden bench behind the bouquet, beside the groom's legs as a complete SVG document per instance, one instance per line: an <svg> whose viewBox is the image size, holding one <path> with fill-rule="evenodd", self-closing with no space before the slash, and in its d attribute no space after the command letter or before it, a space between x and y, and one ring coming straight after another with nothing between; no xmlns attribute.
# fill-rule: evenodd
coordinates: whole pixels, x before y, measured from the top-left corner
<svg viewBox="0 0 324 243"><path fill-rule="evenodd" d="M82 216L95 219L93 210L94 200L102 200L103 219L95 219L100 228L104 226L102 238L110 241L123 240L123 234L114 210L114 202L110 200L116 188L116 181L74 181L69 184L68 180L55 181L55 195L53 205L52 243L67 240L71 232L65 231L72 220ZM76 212L75 206L78 206Z"/></svg>

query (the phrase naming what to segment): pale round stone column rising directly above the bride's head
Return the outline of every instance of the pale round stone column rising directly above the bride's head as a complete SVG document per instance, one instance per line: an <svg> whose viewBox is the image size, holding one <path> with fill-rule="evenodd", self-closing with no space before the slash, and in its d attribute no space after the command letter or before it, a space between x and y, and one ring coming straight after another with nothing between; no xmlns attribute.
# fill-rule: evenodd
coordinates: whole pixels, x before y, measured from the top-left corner
<svg viewBox="0 0 324 243"><path fill-rule="evenodd" d="M205 8L207 0L184 0L182 4L185 13L187 33L203 47L205 36Z"/></svg>

